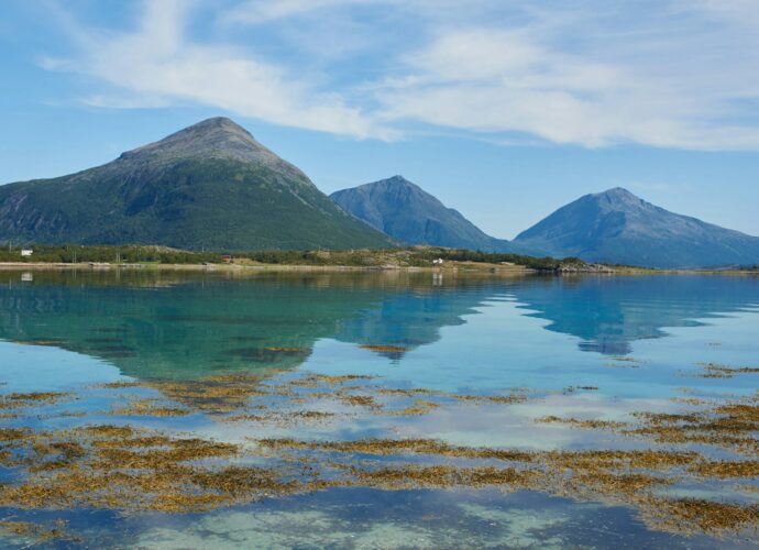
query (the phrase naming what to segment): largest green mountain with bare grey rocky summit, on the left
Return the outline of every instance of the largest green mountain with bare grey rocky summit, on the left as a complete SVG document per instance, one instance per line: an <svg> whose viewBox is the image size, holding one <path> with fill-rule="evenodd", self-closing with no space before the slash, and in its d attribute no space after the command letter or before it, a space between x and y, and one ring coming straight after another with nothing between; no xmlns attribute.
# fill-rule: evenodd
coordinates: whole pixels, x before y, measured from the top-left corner
<svg viewBox="0 0 759 550"><path fill-rule="evenodd" d="M219 251L395 244L226 118L103 166L0 186L0 241Z"/></svg>

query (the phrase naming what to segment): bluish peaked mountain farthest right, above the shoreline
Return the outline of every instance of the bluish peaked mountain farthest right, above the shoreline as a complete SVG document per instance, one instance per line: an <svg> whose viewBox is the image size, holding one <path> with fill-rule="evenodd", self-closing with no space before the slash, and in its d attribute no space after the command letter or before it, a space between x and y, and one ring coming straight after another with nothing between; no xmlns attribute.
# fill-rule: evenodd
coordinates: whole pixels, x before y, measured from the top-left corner
<svg viewBox="0 0 759 550"><path fill-rule="evenodd" d="M672 213L618 187L560 208L515 242L559 257L648 267L759 262L759 238Z"/></svg>

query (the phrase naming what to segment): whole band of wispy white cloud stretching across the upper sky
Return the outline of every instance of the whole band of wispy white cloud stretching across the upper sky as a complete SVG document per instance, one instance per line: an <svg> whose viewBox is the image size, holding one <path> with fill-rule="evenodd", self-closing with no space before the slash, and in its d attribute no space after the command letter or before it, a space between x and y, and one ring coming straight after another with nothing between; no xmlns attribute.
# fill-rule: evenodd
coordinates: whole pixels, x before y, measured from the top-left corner
<svg viewBox="0 0 759 550"><path fill-rule="evenodd" d="M89 90L94 105L198 102L361 139L424 128L502 142L759 148L752 0L536 6L249 0L218 13L200 1L145 2L133 29L79 29L80 54L44 66L117 90ZM223 32L199 34L204 24Z"/></svg>

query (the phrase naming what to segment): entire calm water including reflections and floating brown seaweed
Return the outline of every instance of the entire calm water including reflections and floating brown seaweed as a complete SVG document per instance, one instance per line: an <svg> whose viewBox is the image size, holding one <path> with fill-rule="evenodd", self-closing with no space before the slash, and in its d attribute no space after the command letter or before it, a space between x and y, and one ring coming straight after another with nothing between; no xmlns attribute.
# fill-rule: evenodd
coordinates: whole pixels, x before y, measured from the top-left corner
<svg viewBox="0 0 759 550"><path fill-rule="evenodd" d="M751 547L759 279L0 273L3 546Z"/></svg>

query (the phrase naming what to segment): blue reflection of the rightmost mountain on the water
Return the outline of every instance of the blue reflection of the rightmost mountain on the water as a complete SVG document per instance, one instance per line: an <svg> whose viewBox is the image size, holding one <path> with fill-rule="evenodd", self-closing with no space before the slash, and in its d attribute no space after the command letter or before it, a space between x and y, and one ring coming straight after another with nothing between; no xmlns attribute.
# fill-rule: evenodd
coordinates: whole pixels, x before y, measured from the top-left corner
<svg viewBox="0 0 759 550"><path fill-rule="evenodd" d="M547 330L580 339L582 351L626 355L636 340L662 338L668 327L759 304L759 280L743 276L652 275L535 277L512 288Z"/></svg>

